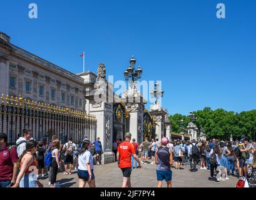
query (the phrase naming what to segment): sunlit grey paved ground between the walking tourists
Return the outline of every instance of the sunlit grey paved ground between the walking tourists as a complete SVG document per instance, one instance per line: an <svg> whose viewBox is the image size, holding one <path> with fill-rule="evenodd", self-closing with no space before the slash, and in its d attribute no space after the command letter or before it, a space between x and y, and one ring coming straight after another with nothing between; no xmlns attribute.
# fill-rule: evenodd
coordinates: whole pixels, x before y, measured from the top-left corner
<svg viewBox="0 0 256 200"><path fill-rule="evenodd" d="M173 187L235 187L237 178L230 176L227 181L221 181L220 184L215 181L208 181L210 171L199 169L195 173L189 171L189 166L182 166L183 169L173 171ZM123 174L116 163L94 166L96 187L121 187ZM48 186L48 178L39 178L39 181ZM78 187L77 171L71 175L58 173L57 182L61 187ZM166 187L163 181L163 187ZM156 187L156 166L154 164L143 164L142 169L133 169L131 173L132 187ZM88 187L88 184L86 184Z"/></svg>

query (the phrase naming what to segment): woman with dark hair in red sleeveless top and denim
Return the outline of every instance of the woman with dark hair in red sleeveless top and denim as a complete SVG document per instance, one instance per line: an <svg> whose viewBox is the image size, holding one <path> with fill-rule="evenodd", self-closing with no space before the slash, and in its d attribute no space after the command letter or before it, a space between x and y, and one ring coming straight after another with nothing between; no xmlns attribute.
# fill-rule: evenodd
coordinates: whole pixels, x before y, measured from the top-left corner
<svg viewBox="0 0 256 200"><path fill-rule="evenodd" d="M43 187L43 184L36 178L38 173L37 161L33 155L37 151L36 147L37 143L34 140L26 143L26 150L23 151L18 161L21 171L19 171L13 187Z"/></svg>

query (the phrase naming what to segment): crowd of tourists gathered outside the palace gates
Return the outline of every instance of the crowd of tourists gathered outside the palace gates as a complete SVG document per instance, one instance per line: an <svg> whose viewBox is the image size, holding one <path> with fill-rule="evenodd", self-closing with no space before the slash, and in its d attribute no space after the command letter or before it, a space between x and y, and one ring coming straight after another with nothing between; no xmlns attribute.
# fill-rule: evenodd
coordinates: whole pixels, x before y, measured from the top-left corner
<svg viewBox="0 0 256 200"><path fill-rule="evenodd" d="M52 136L49 144L42 138L39 142L31 138L31 131L23 130L16 144L8 145L8 136L0 134L0 187L43 187L38 180L48 176L50 187L56 183L59 170L69 176L78 171L78 185L96 187L93 168L101 164L103 153L100 138L91 142L84 138L74 144L72 138L64 144ZM166 181L172 187L172 168L177 171L182 166L190 166L190 172L198 169L209 171L209 181L228 181L230 176L247 180L250 187L256 186L256 146L253 141L242 137L239 141L192 141L167 138L145 138L143 143L125 134L125 141L113 143L118 168L123 173L122 187L131 187L132 169L142 168L143 164L156 165L157 187ZM140 159L139 159L140 156ZM198 167L197 167L198 166Z"/></svg>

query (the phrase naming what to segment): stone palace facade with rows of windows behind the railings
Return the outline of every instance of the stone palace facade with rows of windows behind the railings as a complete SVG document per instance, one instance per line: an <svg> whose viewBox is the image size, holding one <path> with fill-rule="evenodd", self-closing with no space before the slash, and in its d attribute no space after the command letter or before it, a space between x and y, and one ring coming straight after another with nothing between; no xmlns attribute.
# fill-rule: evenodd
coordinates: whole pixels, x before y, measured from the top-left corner
<svg viewBox="0 0 256 200"><path fill-rule="evenodd" d="M0 93L86 111L96 75L73 74L11 44L0 32Z"/></svg>

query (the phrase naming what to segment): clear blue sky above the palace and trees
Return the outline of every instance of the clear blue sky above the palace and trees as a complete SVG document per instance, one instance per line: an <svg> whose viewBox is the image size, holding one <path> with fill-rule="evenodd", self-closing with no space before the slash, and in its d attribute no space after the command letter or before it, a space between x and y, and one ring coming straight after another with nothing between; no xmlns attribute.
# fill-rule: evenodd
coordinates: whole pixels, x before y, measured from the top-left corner
<svg viewBox="0 0 256 200"><path fill-rule="evenodd" d="M29 19L28 5L38 5ZM217 19L223 2L226 19ZM162 81L170 114L211 107L255 109L256 1L3 1L0 31L11 42L73 73L124 79L135 55L146 81ZM149 105L148 105L149 106Z"/></svg>

